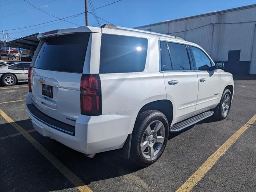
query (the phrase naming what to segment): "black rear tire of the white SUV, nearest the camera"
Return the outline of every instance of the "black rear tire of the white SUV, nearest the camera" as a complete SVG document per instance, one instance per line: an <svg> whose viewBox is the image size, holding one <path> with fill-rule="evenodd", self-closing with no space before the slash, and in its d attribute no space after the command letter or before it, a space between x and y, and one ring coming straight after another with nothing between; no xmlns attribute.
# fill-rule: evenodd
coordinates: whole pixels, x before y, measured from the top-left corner
<svg viewBox="0 0 256 192"><path fill-rule="evenodd" d="M161 130L159 129L159 131L161 132L161 134L163 134L163 132L165 132L165 136L164 137L162 136L162 138L164 138L164 141L159 150L158 150L158 146L161 144L158 143L158 141L155 141L155 143L153 144L154 141L153 142L151 141L151 144L153 144L156 147L155 150L158 150L158 152L156 153L156 155L153 158L150 158L149 156L148 156L148 158L146 158L145 154L142 154L142 149L141 149L140 144L142 142L142 138L144 138L144 136L145 136L144 134L145 134L146 128L150 124L152 126L154 126L154 122L159 122L159 123L161 122L163 124L164 128L163 128L163 126L161 126L161 128L160 128ZM155 132L155 133L158 134L159 131ZM155 136L155 137L157 138L157 136ZM167 144L168 137L169 137L169 124L168 124L168 120L167 120L166 116L163 113L156 111L156 110L148 110L148 111L138 114L138 117L137 117L135 125L134 125L134 130L132 132L130 159L138 166L146 167L146 166L153 164L160 158L163 151L165 150L165 146ZM146 141L144 141L144 142L146 142ZM147 140L147 144L148 143L150 144L150 142ZM153 149L154 149L154 147L153 147ZM148 154L149 154L149 148L148 148Z"/></svg>

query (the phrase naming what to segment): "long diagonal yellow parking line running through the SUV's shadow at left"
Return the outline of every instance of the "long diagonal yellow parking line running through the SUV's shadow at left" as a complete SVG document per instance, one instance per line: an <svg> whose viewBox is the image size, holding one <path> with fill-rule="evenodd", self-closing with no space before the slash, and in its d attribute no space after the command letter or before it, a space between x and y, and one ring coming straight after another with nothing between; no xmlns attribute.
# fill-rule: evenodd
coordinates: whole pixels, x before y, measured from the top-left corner
<svg viewBox="0 0 256 192"><path fill-rule="evenodd" d="M53 164L73 185L81 192L92 192L71 170L61 163L53 154L44 148L35 138L26 132L21 126L16 124L5 112L0 109L0 115L10 123L18 132L20 132L51 164Z"/></svg>

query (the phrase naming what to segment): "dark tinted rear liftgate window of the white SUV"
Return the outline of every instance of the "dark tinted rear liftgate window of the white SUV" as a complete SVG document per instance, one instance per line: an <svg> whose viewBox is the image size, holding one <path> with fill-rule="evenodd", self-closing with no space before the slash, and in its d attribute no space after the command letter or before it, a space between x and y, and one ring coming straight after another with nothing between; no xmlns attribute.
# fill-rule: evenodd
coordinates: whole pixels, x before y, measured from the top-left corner
<svg viewBox="0 0 256 192"><path fill-rule="evenodd" d="M43 39L34 67L82 73L89 37L90 33L76 33Z"/></svg>

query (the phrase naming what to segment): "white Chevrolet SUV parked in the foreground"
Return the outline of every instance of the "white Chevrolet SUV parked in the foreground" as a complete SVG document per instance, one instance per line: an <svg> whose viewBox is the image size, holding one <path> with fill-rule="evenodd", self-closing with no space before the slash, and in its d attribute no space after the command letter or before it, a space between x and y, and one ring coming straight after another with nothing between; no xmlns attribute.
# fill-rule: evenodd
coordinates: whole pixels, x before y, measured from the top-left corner
<svg viewBox="0 0 256 192"><path fill-rule="evenodd" d="M26 110L34 128L89 157L117 150L140 166L163 153L169 132L224 119L232 74L197 44L104 25L39 34Z"/></svg>

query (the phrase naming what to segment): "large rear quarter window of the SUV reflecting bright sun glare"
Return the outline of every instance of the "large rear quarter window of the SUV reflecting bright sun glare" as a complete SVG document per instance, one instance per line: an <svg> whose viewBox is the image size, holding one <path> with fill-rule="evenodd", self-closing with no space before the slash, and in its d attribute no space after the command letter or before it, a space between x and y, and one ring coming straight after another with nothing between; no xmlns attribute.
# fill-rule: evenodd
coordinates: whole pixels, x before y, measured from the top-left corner
<svg viewBox="0 0 256 192"><path fill-rule="evenodd" d="M100 73L142 72L147 48L146 38L102 34Z"/></svg>

